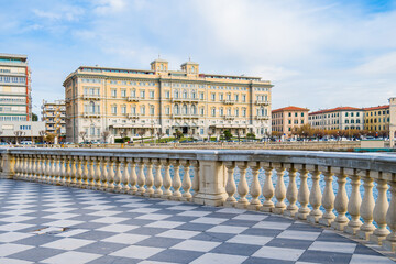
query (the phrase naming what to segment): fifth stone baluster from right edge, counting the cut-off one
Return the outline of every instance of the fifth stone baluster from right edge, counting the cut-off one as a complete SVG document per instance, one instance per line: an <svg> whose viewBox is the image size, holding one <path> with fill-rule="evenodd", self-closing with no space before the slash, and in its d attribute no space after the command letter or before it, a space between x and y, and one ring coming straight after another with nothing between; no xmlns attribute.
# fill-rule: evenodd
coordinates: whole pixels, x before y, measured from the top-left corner
<svg viewBox="0 0 396 264"><path fill-rule="evenodd" d="M346 174L343 168L339 168L337 176L338 191L334 200L334 208L338 216L334 222L331 223L331 228L343 231L346 227L349 219L345 216L348 210L348 195L345 190Z"/></svg>

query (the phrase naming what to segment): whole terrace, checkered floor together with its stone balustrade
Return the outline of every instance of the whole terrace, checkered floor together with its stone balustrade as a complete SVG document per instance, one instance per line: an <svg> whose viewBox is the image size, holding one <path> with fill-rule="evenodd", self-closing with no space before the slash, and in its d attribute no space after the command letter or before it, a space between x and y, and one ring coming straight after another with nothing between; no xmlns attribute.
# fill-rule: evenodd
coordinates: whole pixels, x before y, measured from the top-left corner
<svg viewBox="0 0 396 264"><path fill-rule="evenodd" d="M393 155L80 148L1 155L4 263L395 260Z"/></svg>

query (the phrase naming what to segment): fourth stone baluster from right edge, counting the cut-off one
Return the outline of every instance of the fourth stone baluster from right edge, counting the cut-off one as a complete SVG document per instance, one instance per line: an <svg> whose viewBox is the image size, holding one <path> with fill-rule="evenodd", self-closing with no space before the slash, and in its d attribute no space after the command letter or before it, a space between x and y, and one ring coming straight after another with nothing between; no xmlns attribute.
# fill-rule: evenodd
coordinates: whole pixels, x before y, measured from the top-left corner
<svg viewBox="0 0 396 264"><path fill-rule="evenodd" d="M348 212L351 215L351 221L349 221L344 231L350 234L355 234L362 226L362 222L360 220L360 207L362 204L362 197L359 190L361 182L356 170L358 169L346 170L346 174L350 175L351 178L352 193L348 202Z"/></svg>

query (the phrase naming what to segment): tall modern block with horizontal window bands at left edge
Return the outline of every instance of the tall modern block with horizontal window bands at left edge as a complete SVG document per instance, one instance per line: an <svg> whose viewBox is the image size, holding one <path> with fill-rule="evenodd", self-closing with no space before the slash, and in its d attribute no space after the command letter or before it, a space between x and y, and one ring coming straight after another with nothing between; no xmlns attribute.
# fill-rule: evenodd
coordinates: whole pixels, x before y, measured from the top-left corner
<svg viewBox="0 0 396 264"><path fill-rule="evenodd" d="M31 121L31 101L28 56L0 53L0 122Z"/></svg>

